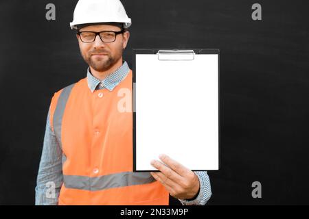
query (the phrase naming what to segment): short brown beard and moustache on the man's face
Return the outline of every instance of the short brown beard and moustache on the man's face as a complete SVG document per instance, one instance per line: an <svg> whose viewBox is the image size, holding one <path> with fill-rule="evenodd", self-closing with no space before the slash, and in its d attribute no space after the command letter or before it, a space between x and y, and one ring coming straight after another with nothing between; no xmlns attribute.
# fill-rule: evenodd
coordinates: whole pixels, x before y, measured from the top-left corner
<svg viewBox="0 0 309 219"><path fill-rule="evenodd" d="M94 70L97 70L98 72L106 71L110 68L112 68L122 57L122 47L116 50L115 55L112 55L108 51L105 51L104 49L93 49L89 51L88 53L82 53L82 57L84 58L84 61L89 64ZM106 53L107 55L104 55L102 57L93 57L93 54L97 53Z"/></svg>

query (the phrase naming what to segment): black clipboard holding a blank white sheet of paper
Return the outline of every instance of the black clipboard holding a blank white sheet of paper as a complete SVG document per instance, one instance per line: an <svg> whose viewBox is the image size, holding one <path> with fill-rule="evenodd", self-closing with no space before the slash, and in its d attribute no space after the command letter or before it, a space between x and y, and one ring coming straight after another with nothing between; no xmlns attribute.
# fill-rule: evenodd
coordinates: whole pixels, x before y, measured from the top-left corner
<svg viewBox="0 0 309 219"><path fill-rule="evenodd" d="M133 172L220 168L219 49L133 49Z"/></svg>

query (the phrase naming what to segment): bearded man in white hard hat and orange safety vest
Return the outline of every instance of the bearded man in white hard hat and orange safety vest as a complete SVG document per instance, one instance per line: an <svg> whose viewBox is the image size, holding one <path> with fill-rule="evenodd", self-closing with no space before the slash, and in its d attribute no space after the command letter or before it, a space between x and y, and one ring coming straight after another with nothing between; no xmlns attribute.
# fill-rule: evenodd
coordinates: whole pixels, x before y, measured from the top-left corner
<svg viewBox="0 0 309 219"><path fill-rule="evenodd" d="M87 77L56 92L47 115L36 205L205 205L207 172L167 155L160 172L133 172L133 116L119 110L132 71L122 60L130 18L119 0L80 0L71 28L89 64Z"/></svg>

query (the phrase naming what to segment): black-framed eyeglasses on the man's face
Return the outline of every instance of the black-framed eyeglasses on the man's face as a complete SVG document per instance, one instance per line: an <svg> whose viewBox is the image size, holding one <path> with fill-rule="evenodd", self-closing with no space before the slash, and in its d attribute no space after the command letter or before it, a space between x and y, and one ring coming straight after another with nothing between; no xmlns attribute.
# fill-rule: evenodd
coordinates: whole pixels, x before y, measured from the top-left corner
<svg viewBox="0 0 309 219"><path fill-rule="evenodd" d="M124 33L122 31L101 31L101 32L93 32L93 31L78 31L77 34L80 36L80 40L82 42L94 42L97 35L100 36L102 42L114 42L116 40L116 36L118 34Z"/></svg>

